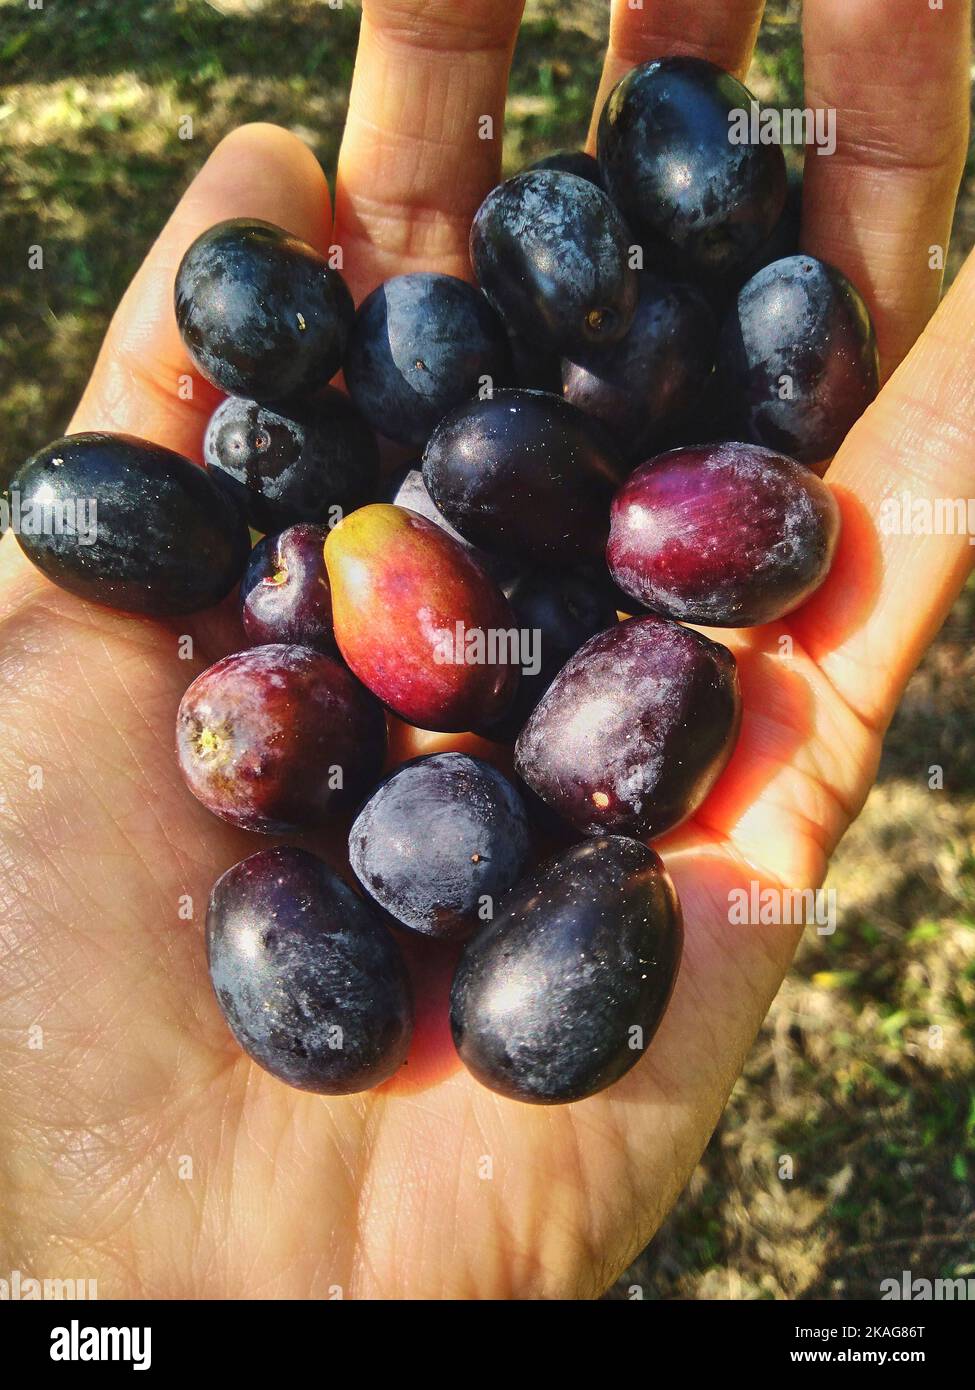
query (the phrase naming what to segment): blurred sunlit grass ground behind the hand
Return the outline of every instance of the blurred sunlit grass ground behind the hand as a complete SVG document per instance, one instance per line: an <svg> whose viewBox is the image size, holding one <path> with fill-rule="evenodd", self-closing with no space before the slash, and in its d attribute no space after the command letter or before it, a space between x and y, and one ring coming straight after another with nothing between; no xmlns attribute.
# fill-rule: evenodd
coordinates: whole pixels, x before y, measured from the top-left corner
<svg viewBox="0 0 975 1390"><path fill-rule="evenodd" d="M584 138L606 17L529 0L508 172ZM0 0L0 478L64 430L113 306L227 131L278 121L334 174L357 25L350 0ZM798 4L772 0L750 82L794 106L801 72ZM972 243L969 157L950 274ZM904 1269L975 1276L974 635L969 585L836 856L839 930L807 933L687 1191L611 1297L869 1300Z"/></svg>

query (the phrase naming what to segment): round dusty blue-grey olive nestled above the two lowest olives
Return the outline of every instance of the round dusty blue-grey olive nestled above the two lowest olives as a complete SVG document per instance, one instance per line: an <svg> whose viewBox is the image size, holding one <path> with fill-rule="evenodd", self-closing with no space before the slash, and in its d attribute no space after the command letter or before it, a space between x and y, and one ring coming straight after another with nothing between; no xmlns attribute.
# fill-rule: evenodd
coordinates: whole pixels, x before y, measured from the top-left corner
<svg viewBox="0 0 975 1390"><path fill-rule="evenodd" d="M529 851L517 791L466 753L403 763L349 833L349 863L366 892L401 926L440 940L490 922Z"/></svg>

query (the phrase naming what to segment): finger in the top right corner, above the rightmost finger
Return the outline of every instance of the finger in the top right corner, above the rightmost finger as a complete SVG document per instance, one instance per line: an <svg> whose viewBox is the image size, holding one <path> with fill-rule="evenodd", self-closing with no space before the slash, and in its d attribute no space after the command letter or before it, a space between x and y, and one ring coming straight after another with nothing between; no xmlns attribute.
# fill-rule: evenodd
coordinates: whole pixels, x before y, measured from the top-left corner
<svg viewBox="0 0 975 1390"><path fill-rule="evenodd" d="M968 147L969 0L807 0L807 106L836 152L805 160L803 249L865 295L883 374L937 306ZM940 249L940 250L935 250Z"/></svg>

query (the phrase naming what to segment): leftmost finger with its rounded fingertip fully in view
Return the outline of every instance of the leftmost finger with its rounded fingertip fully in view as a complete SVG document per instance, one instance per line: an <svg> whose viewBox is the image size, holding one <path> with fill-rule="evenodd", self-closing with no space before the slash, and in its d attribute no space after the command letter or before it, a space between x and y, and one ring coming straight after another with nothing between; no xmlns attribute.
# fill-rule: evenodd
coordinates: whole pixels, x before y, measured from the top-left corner
<svg viewBox="0 0 975 1390"><path fill-rule="evenodd" d="M125 292L71 431L117 430L200 456L220 393L186 356L172 285L189 243L228 217L277 222L323 250L330 239L328 185L314 154L275 125L243 125L220 142Z"/></svg>

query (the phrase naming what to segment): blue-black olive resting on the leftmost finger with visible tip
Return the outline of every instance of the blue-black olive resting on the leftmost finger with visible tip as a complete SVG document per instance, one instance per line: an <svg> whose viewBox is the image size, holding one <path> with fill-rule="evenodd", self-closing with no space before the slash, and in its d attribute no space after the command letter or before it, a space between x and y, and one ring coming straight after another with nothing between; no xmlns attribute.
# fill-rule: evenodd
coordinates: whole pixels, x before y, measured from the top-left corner
<svg viewBox="0 0 975 1390"><path fill-rule="evenodd" d="M207 381L263 402L331 381L355 318L345 281L319 252L273 222L243 217L192 243L177 271L175 311Z"/></svg>

